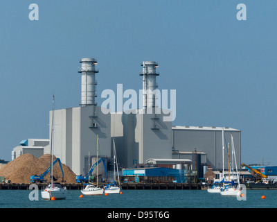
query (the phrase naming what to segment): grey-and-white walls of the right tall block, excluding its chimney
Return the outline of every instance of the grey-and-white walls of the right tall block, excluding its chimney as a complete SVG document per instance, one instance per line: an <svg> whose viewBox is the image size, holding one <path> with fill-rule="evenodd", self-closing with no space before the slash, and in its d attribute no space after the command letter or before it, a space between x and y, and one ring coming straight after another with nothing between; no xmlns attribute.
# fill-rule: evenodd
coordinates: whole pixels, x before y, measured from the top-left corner
<svg viewBox="0 0 277 222"><path fill-rule="evenodd" d="M144 164L150 158L171 158L171 122L161 114L111 114L111 137L115 137L122 167Z"/></svg>

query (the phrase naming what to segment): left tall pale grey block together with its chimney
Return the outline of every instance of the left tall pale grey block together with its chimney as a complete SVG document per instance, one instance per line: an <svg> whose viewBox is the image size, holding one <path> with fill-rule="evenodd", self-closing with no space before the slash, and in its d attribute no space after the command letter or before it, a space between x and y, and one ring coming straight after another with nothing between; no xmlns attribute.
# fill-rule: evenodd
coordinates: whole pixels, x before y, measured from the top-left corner
<svg viewBox="0 0 277 222"><path fill-rule="evenodd" d="M98 150L102 157L111 157L111 114L104 114L96 103L97 60L80 60L82 75L82 94L80 107L54 111L54 155L60 158L77 174L87 172L87 157L91 158ZM103 109L103 108L102 108ZM49 123L52 119L50 112ZM51 126L49 127L51 130ZM51 139L51 131L49 132Z"/></svg>

